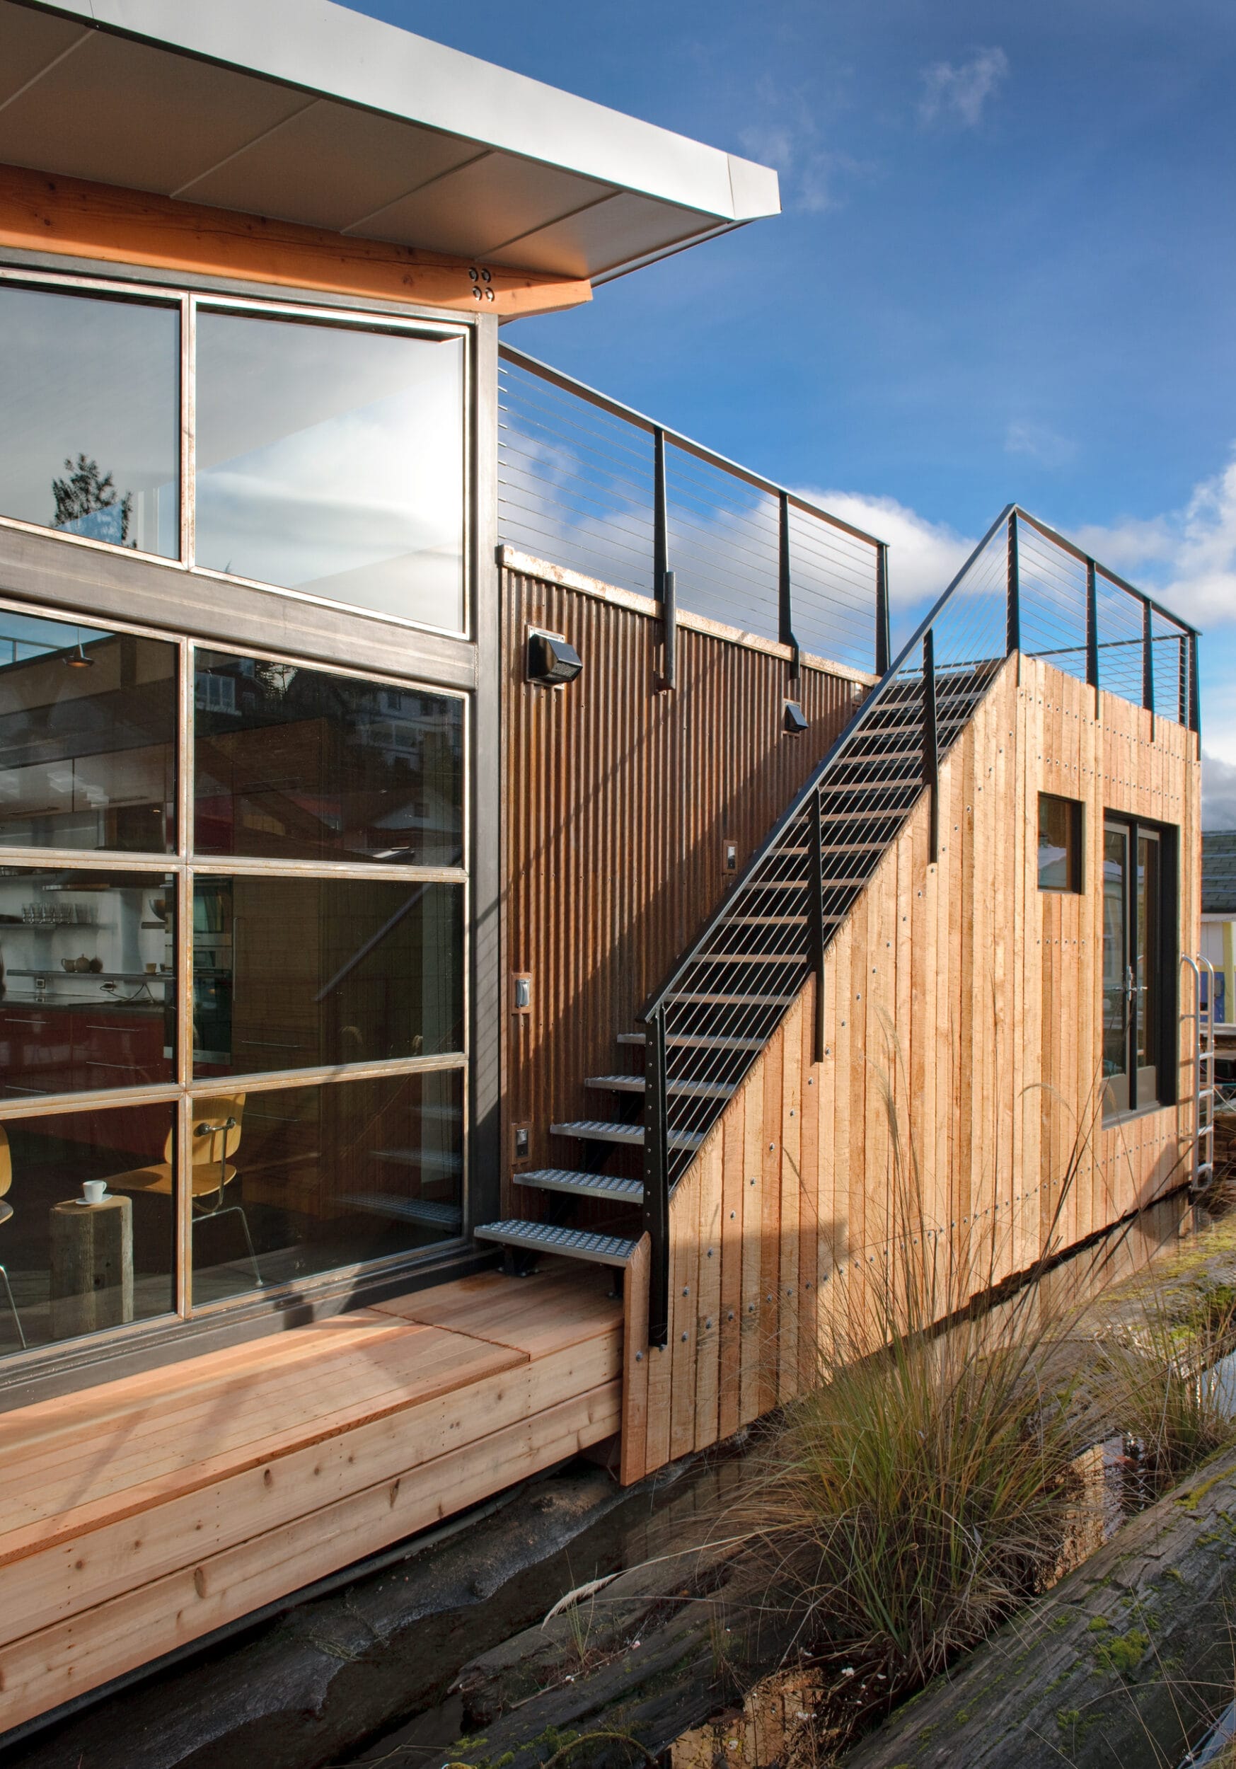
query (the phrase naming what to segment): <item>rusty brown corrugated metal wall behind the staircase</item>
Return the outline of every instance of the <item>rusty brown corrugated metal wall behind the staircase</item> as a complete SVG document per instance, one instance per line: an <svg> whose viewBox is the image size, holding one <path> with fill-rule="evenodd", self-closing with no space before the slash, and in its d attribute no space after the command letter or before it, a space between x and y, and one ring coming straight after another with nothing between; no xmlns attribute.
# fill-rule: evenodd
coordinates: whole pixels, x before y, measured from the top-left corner
<svg viewBox="0 0 1236 1769"><path fill-rule="evenodd" d="M851 716L847 678L805 669L810 731L782 731L789 665L679 628L679 686L656 692L660 623L599 596L504 571L504 847L507 969L532 975L507 1014L509 1127L532 1125L534 1166L571 1166L548 1137L607 1116L584 1077L635 1067L619 1031L725 893L725 842L746 863ZM584 658L569 688L523 681L525 632L564 633ZM635 1169L631 1169L635 1171ZM522 1192L520 1212L534 1199Z"/></svg>

